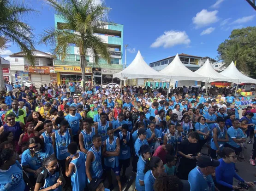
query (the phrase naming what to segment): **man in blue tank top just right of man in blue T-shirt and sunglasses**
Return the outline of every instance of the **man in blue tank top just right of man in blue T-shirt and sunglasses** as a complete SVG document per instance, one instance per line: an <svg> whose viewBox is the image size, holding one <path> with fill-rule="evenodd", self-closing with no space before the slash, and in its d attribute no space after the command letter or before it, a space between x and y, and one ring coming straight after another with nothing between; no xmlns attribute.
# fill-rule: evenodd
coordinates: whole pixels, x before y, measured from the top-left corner
<svg viewBox="0 0 256 191"><path fill-rule="evenodd" d="M83 130L79 134L79 145L80 150L86 154L89 149L93 146L92 137L95 134L98 134L98 130L94 127L91 127L90 118L85 118L83 120Z"/></svg>

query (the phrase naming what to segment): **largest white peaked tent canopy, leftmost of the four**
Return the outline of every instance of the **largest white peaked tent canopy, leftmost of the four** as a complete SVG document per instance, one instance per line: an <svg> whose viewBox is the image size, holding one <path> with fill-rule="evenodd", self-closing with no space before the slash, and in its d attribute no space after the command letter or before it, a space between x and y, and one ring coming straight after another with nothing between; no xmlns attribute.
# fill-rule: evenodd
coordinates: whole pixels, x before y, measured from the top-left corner
<svg viewBox="0 0 256 191"><path fill-rule="evenodd" d="M138 51L131 64L119 73L113 74L113 78L125 79L161 79L170 81L169 75L164 75L150 67Z"/></svg>

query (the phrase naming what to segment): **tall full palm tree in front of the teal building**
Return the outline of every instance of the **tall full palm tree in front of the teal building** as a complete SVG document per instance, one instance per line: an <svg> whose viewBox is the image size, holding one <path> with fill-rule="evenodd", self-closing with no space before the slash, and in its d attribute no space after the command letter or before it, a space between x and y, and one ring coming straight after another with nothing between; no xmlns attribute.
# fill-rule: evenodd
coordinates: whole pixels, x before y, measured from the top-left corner
<svg viewBox="0 0 256 191"><path fill-rule="evenodd" d="M104 4L96 5L94 0L46 0L65 23L58 28L47 28L41 34L41 43L50 45L54 55L62 61L69 54L71 44L79 47L82 80L85 81L86 53L94 58L97 65L100 56L110 63L107 44L95 32L104 31L107 24L114 25L107 19L107 8ZM83 83L84 86L84 83Z"/></svg>

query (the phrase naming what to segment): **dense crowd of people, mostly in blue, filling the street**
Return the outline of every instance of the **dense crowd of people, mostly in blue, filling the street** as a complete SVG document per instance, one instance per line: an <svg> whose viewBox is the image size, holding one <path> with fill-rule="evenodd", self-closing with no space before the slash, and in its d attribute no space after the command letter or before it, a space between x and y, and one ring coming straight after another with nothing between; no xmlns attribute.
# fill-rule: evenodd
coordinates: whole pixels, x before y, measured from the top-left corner
<svg viewBox="0 0 256 191"><path fill-rule="evenodd" d="M38 91L16 83L0 92L0 190L109 191L114 177L122 191L130 164L137 191L254 186L237 174L235 163L255 165L255 99L242 110L227 89L207 96L185 86L170 93L72 83L66 88L44 84ZM244 149L252 143L246 159Z"/></svg>

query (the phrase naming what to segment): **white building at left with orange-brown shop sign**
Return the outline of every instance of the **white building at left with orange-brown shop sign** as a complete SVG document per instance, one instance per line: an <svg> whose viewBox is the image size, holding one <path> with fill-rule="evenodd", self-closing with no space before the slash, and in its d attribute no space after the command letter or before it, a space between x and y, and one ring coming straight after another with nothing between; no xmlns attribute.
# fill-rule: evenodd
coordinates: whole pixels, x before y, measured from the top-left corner
<svg viewBox="0 0 256 191"><path fill-rule="evenodd" d="M10 55L10 69L12 82L31 81L39 88L41 84L57 83L57 74L54 73L52 55L34 50L35 66L31 66L24 52Z"/></svg>

